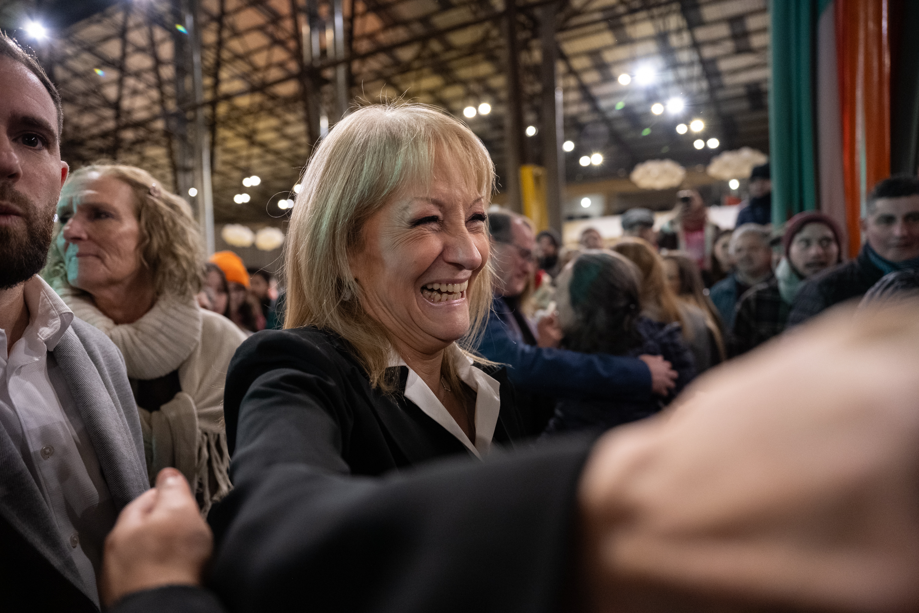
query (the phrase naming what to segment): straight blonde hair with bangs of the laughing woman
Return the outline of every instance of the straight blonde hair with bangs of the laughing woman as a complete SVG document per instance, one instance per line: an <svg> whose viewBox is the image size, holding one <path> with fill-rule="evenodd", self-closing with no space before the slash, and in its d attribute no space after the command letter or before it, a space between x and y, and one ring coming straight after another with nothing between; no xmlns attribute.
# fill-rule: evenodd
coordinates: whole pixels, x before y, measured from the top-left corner
<svg viewBox="0 0 919 613"><path fill-rule="evenodd" d="M389 103L359 108L342 119L316 149L303 172L285 245L288 278L285 328L312 325L335 332L354 346L370 384L391 392L386 368L391 339L360 304L348 253L357 248L364 224L391 199L412 187L428 187L437 155L459 161L459 173L491 199L494 164L484 145L459 120L420 104ZM492 301L491 265L468 289L471 326L459 341L472 354ZM458 382L456 365L441 371Z"/></svg>

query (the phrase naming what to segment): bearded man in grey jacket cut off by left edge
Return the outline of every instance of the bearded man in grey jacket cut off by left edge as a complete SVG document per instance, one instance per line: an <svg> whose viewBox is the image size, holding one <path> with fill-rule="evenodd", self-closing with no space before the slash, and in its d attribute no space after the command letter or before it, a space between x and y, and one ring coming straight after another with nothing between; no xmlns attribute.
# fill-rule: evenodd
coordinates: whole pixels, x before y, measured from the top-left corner
<svg viewBox="0 0 919 613"><path fill-rule="evenodd" d="M16 610L97 611L106 535L148 482L124 359L38 275L61 127L54 85L0 33L0 591Z"/></svg>

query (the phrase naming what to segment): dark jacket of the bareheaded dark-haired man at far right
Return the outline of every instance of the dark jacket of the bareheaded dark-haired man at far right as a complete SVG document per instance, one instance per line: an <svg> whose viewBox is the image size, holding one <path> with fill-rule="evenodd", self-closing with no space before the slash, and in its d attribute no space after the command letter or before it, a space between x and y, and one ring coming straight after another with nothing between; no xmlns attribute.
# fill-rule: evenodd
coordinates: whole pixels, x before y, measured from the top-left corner
<svg viewBox="0 0 919 613"><path fill-rule="evenodd" d="M834 304L864 296L884 276L884 271L871 262L869 248L864 244L856 259L808 279L791 305L789 327L806 322Z"/></svg>

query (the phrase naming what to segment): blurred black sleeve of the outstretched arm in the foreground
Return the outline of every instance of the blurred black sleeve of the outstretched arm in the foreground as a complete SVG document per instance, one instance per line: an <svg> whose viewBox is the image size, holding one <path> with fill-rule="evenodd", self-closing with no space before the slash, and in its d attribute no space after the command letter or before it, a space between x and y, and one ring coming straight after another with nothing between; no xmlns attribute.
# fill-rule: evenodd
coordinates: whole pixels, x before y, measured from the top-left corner
<svg viewBox="0 0 919 613"><path fill-rule="evenodd" d="M589 448L556 439L380 478L276 464L211 512L208 585L234 611L557 610Z"/></svg>

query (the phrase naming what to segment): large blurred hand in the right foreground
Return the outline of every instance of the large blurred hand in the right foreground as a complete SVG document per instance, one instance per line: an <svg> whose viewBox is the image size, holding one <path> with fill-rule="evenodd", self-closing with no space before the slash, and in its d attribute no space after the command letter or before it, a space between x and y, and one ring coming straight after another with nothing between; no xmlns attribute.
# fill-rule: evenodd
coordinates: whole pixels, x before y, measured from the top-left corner
<svg viewBox="0 0 919 613"><path fill-rule="evenodd" d="M588 608L919 610L917 307L832 314L602 438Z"/></svg>

